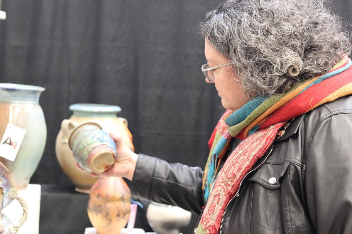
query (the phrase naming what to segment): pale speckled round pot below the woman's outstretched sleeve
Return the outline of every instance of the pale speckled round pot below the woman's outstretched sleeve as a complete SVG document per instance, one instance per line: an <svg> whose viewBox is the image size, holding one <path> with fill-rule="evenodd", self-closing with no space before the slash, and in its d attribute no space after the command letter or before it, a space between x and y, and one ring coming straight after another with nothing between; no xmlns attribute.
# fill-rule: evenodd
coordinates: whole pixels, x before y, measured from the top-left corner
<svg viewBox="0 0 352 234"><path fill-rule="evenodd" d="M151 202L147 208L147 221L157 234L180 234L190 220L191 212L177 206Z"/></svg>

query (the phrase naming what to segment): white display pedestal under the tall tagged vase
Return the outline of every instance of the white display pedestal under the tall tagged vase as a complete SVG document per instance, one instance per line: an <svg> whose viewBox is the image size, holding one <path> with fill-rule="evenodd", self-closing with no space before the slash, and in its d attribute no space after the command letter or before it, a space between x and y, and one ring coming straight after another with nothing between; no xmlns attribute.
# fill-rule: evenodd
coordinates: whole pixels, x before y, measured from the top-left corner
<svg viewBox="0 0 352 234"><path fill-rule="evenodd" d="M40 185L29 184L27 189L18 190L21 198L26 200L28 205L27 220L18 230L17 234L39 234L39 212L40 212ZM21 218L23 209L17 200L11 202L1 210L14 223Z"/></svg>

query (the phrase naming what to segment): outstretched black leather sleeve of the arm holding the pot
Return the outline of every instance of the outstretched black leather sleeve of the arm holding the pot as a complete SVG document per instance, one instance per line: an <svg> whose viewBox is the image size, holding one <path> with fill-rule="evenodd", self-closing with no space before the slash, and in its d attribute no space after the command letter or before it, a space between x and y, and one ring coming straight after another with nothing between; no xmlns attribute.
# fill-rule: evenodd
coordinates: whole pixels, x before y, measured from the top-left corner
<svg viewBox="0 0 352 234"><path fill-rule="evenodd" d="M200 167L168 163L139 154L131 195L200 214L203 206L202 178Z"/></svg>

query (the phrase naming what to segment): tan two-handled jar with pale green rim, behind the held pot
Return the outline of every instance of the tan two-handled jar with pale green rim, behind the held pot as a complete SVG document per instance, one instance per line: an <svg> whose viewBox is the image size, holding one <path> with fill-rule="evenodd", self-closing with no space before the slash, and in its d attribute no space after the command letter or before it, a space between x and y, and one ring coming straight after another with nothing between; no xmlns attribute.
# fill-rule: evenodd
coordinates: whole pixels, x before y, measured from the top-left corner
<svg viewBox="0 0 352 234"><path fill-rule="evenodd" d="M75 190L89 193L90 187L97 178L75 167L75 160L68 146L68 138L72 130L82 122L96 122L104 131L120 134L122 141L130 149L133 149L132 135L127 128L127 120L117 116L117 113L121 111L119 106L78 103L71 105L70 110L73 111L73 115L70 119L62 121L56 138L56 157L63 171L75 184Z"/></svg>

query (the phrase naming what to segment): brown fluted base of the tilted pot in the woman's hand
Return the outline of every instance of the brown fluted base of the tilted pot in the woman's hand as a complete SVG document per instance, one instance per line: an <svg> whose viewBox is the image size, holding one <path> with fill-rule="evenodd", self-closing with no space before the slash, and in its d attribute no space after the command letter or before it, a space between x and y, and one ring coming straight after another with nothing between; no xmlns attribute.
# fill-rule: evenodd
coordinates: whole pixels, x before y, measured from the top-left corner
<svg viewBox="0 0 352 234"><path fill-rule="evenodd" d="M95 174L106 172L115 163L113 149L100 145L92 149L87 157L87 167Z"/></svg>

